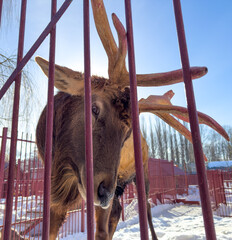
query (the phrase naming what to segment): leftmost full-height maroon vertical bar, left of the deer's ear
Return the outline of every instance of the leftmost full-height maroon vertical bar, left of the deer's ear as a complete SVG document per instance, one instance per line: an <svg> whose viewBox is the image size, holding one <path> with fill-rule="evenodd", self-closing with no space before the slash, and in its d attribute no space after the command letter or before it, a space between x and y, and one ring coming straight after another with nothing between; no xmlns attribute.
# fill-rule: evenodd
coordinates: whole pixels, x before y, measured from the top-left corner
<svg viewBox="0 0 232 240"><path fill-rule="evenodd" d="M19 27L17 65L20 63L20 61L23 58L26 7L27 7L27 0L22 0L20 27ZM16 158L16 145L17 145L17 132L18 132L20 85L21 85L21 73L19 73L15 78L13 120L12 120L12 127L11 127L8 189L7 189L7 202L6 202L7 215L6 215L6 219L5 219L4 239L10 239L10 233L11 233L10 228L11 228L11 221L12 221L12 206L13 206L13 191L14 191L14 166L15 166L15 160L16 160L15 158Z"/></svg>

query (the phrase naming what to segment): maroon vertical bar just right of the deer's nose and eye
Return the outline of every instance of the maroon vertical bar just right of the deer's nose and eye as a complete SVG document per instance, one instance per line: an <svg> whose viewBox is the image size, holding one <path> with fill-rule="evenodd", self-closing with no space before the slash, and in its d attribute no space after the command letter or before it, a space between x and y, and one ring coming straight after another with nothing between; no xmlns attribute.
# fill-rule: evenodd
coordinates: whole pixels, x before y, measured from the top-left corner
<svg viewBox="0 0 232 240"><path fill-rule="evenodd" d="M129 75L130 75L130 95L132 107L132 127L135 150L135 168L136 168L136 185L138 191L139 204L139 223L140 223L140 237L143 240L148 240L148 225L147 225L147 207L145 194L144 170L141 150L141 137L139 127L139 108L137 98L137 80L135 71L135 56L134 56L134 42L133 42L133 26L131 1L125 0L126 12L126 26L127 26L127 42L128 42L128 60L129 60Z"/></svg>

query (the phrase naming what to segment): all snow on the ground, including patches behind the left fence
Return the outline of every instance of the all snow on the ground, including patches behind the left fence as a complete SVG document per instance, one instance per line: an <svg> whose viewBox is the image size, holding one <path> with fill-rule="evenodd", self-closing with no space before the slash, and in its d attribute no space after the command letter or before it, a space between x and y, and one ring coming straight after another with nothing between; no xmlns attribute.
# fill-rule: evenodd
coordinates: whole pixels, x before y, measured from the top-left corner
<svg viewBox="0 0 232 240"><path fill-rule="evenodd" d="M181 196L179 196L181 197ZM182 196L187 200L199 201L199 191L196 186L189 188L189 195ZM4 201L2 199L1 201ZM21 199L20 199L21 200ZM38 201L39 202L39 201ZM31 206L31 214L39 210L41 206L35 204L34 197L29 198L28 207ZM227 199L227 202L232 202L232 198ZM24 209L25 206L18 204L19 209ZM229 206L221 206L222 208ZM231 208L231 206L230 206ZM24 216L25 211L18 211L17 214L14 211L12 216L12 222L15 219L20 218L20 215ZM0 205L0 225L3 220L4 207ZM17 216L15 218L15 216ZM206 239L203 226L203 218L200 206L184 205L184 204L163 204L154 206L152 208L153 225L155 227L157 236L161 240L198 240ZM38 217L38 216L37 216ZM114 234L114 240L135 240L140 239L139 232L139 218L138 218L138 206L137 201L134 200L130 205L125 207L125 222L120 221L117 230ZM72 221L69 217L68 221ZM214 214L214 223L216 228L216 234L218 240L232 240L232 218L231 217L219 217ZM39 226L39 225L38 225ZM40 226L40 229L42 225ZM33 230L34 231L34 230ZM61 230L62 231L62 230ZM149 233L150 234L150 233ZM62 240L86 240L87 234L78 233L74 235L61 238Z"/></svg>

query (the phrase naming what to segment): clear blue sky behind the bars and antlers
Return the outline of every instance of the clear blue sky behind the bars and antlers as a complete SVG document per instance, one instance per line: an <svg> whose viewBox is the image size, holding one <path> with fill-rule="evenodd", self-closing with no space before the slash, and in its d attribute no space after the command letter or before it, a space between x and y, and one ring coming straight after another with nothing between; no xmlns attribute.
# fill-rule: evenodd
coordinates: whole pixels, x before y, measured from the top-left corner
<svg viewBox="0 0 232 240"><path fill-rule="evenodd" d="M206 76L194 80L197 109L210 115L221 125L232 125L232 1L181 2L190 64L208 67ZM63 1L58 0L58 6L62 3ZM112 12L125 23L124 1L108 0L105 5L110 23ZM28 51L48 23L50 1L28 1L27 9L25 51ZM165 72L181 68L172 1L132 0L132 9L137 73ZM79 71L83 71L82 11L82 1L73 1L58 22L56 42L56 63ZM91 71L107 77L107 58L95 30L92 12L90 24ZM3 19L0 48L5 52L16 52L17 26L18 23L7 25ZM113 34L117 39L114 29ZM48 58L48 45L49 38L35 56ZM47 79L35 63L31 63L30 68L43 106L46 102ZM186 106L183 83L139 88L138 97L161 95L170 89L175 92L172 103Z"/></svg>

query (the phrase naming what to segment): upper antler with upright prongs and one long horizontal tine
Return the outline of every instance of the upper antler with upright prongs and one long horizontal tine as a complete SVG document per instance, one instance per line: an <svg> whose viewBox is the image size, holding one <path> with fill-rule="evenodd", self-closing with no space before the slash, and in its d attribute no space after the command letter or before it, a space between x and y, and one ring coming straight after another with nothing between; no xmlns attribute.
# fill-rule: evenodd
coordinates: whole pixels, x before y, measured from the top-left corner
<svg viewBox="0 0 232 240"><path fill-rule="evenodd" d="M108 56L108 74L112 84L121 87L129 86L129 74L126 69L125 58L127 54L126 31L115 14L112 14L114 27L118 34L119 47L117 47L110 29L103 0L91 0L95 25ZM207 73L206 67L192 67L192 79L200 78ZM182 69L153 74L138 74L138 86L164 86L183 81Z"/></svg>

